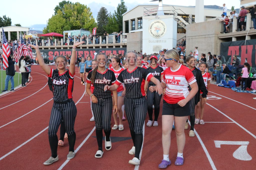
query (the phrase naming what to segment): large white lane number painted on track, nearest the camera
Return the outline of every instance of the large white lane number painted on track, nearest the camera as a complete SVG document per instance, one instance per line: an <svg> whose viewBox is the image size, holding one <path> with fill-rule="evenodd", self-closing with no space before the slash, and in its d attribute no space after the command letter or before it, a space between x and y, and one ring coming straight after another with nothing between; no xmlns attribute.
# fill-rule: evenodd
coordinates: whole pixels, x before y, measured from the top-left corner
<svg viewBox="0 0 256 170"><path fill-rule="evenodd" d="M241 145L236 151L233 153L233 157L242 160L242 161L250 161L252 160L251 155L247 152L247 146L249 145L249 141L221 141L215 140L215 147L220 148L220 145Z"/></svg>

